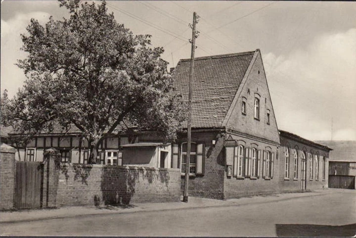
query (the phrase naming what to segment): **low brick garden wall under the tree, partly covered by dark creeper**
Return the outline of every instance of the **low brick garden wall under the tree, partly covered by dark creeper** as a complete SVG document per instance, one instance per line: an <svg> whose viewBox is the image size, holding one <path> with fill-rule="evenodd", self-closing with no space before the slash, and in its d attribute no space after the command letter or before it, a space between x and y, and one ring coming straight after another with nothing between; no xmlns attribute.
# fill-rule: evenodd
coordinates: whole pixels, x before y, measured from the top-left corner
<svg viewBox="0 0 356 238"><path fill-rule="evenodd" d="M61 164L57 206L179 201L179 184L178 169Z"/></svg>

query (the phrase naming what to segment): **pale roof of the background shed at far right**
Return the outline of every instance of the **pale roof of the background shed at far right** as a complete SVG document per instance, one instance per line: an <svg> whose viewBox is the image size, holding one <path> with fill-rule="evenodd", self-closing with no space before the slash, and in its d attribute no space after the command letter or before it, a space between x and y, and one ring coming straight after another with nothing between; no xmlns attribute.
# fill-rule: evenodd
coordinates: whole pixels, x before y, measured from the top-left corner
<svg viewBox="0 0 356 238"><path fill-rule="evenodd" d="M316 143L333 148L329 153L329 160L356 162L356 141L316 141Z"/></svg>

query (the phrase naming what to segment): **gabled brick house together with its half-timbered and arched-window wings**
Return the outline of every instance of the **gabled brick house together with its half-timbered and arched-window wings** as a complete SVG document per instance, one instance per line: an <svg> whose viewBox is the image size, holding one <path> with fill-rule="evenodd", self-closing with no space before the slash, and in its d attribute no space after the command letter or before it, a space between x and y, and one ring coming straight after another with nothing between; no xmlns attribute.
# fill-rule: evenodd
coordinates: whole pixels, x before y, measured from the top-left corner
<svg viewBox="0 0 356 238"><path fill-rule="evenodd" d="M181 59L172 75L175 90L186 100L189 65L190 59ZM63 162L87 163L88 144L78 137L75 126L66 136L61 136L62 131L55 128L51 134L38 135L20 149L19 157L41 161L45 148L56 147ZM285 178L285 146L298 146L299 156L305 151L306 156L320 158L327 158L329 149L287 134L277 128L259 49L195 58L189 195L226 199L325 186L322 179L308 180L307 187L302 187L299 178ZM153 132L134 136L114 132L101 144L96 162L180 168L183 188L185 158L186 130L178 134L176 142L166 145ZM288 166L292 174L293 163ZM300 168L297 166L298 174Z"/></svg>

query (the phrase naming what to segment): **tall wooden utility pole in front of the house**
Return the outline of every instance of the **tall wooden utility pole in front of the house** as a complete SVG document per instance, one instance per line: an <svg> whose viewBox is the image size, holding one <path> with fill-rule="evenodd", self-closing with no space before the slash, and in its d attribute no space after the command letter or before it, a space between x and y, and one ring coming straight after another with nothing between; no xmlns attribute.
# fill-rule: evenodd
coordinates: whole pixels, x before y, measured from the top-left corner
<svg viewBox="0 0 356 238"><path fill-rule="evenodd" d="M191 110L192 110L192 95L193 95L193 76L194 76L194 52L195 52L195 25L197 22L196 12L193 13L192 39L191 39L191 55L190 55L190 75L189 75L189 99L188 99L188 135L187 135L187 154L185 161L185 180L183 202L188 202L188 184L189 184L189 167L190 167L190 141L191 141Z"/></svg>

